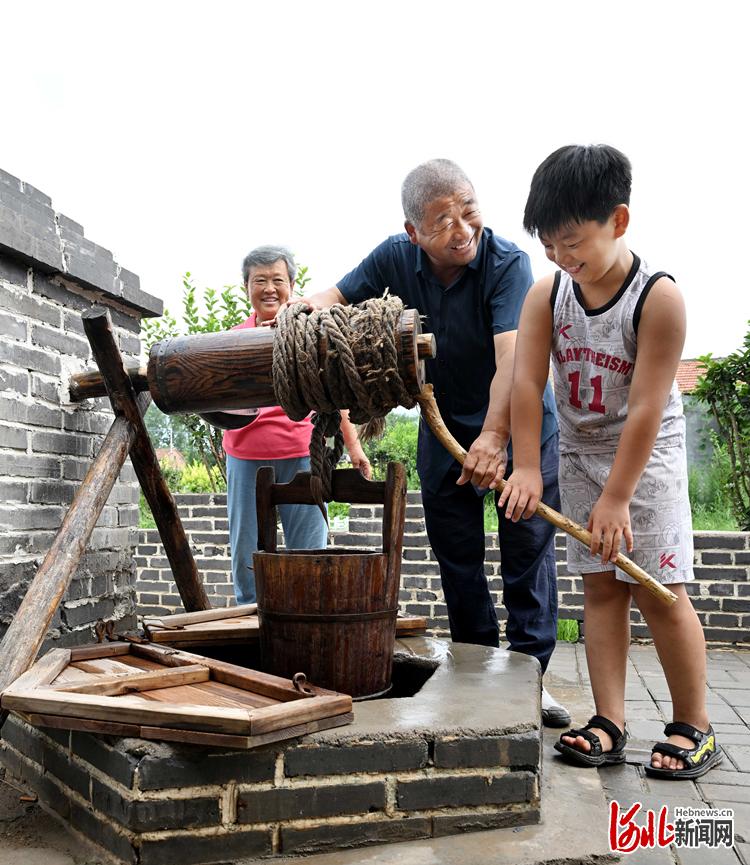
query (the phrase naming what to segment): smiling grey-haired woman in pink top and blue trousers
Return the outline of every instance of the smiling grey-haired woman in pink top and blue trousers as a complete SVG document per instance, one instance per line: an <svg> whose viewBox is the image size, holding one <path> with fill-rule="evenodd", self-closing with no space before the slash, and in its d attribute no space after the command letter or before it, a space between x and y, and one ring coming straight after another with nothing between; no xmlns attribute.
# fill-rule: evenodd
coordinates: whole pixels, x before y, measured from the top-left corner
<svg viewBox="0 0 750 865"><path fill-rule="evenodd" d="M260 327L271 322L279 307L288 302L296 274L294 257L283 246L259 246L249 252L242 262L242 281L253 314L237 328ZM234 593L238 604L249 604L255 601L253 553L258 549L255 477L261 466L273 466L278 483L287 483L297 472L309 471L312 423L309 417L290 420L279 406L224 414L250 415L249 422L247 417L239 418L238 424L246 425L227 430L223 439ZM217 417L207 419L215 422ZM342 416L341 431L352 466L369 477L369 461L348 417ZM279 516L288 549L326 546L328 526L316 506L279 505Z"/></svg>

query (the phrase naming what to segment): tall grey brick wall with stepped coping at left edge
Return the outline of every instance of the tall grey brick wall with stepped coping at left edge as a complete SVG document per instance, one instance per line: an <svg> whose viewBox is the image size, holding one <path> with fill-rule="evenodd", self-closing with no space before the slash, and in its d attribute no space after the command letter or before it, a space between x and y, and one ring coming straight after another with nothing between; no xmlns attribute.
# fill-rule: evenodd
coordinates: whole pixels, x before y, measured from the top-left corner
<svg viewBox="0 0 750 865"><path fill-rule="evenodd" d="M109 307L136 363L141 317L160 314L161 301L46 195L0 170L0 636L112 423L108 400L74 404L67 388L71 374L95 368L81 323L95 304ZM98 619L134 622L137 524L128 462L48 643L87 642Z"/></svg>

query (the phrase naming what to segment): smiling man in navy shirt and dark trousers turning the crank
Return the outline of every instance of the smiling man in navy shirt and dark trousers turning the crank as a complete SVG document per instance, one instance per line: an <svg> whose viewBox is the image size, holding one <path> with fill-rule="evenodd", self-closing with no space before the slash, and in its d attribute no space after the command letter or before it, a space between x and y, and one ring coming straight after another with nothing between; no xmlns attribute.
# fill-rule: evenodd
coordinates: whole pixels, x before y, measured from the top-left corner
<svg viewBox="0 0 750 865"><path fill-rule="evenodd" d="M386 288L425 316L437 341L427 362L440 412L468 450L463 470L425 423L417 469L427 534L440 563L451 635L498 645L498 619L484 572L484 496L512 470L510 388L516 328L533 279L528 256L484 228L474 187L447 159L409 173L402 187L405 234L389 237L327 291L303 300L321 309L359 303ZM540 441L544 500L559 508L558 432L552 394L544 396ZM510 648L542 671L557 636L554 529L539 517L500 514L503 601ZM568 712L542 693L543 718L565 726Z"/></svg>

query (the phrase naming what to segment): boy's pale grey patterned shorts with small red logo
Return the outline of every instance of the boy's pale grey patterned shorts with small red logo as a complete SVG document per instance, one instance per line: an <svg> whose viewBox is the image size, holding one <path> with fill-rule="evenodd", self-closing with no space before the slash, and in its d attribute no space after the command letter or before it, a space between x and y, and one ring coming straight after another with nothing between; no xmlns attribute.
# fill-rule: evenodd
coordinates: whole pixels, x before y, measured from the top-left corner
<svg viewBox="0 0 750 865"><path fill-rule="evenodd" d="M614 453L560 454L562 511L586 526L602 493ZM684 583L693 575L693 524L688 499L687 462L681 446L654 448L630 502L633 551L621 552L660 583ZM618 580L637 582L611 562L602 564L588 547L568 536L568 572L615 571Z"/></svg>

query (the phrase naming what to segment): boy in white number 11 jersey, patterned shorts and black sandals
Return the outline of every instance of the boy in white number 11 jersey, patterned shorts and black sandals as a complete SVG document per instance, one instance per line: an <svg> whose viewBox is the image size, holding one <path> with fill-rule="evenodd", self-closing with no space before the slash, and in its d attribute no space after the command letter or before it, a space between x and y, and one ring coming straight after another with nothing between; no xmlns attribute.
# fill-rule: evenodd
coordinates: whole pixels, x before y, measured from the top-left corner
<svg viewBox="0 0 750 865"><path fill-rule="evenodd" d="M633 598L672 696L667 740L654 746L646 772L692 779L720 763L722 753L706 714L703 630L685 591L693 544L674 381L685 308L672 278L628 249L630 185L627 157L605 145L562 147L534 174L524 227L560 270L531 288L521 313L511 398L514 471L499 504L515 521L539 502L541 395L551 354L563 512L592 535L590 551L568 539L568 569L583 574L596 705L588 724L564 733L555 748L582 766L625 760ZM635 562L669 584L675 604L665 606L615 568L622 541Z"/></svg>

